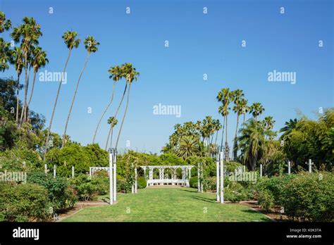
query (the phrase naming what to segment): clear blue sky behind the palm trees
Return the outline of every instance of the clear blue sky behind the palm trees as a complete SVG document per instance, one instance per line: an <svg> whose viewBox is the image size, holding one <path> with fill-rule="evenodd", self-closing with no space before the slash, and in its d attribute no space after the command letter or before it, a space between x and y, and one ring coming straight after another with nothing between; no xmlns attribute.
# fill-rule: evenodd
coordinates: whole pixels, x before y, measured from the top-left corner
<svg viewBox="0 0 334 245"><path fill-rule="evenodd" d="M49 13L49 7L54 13ZM127 7L130 14L125 13ZM280 7L285 8L284 14L280 14ZM68 49L61 36L66 30L75 30L81 39L92 35L100 42L99 51L89 58L82 75L68 125L70 137L83 145L92 142L111 95L112 80L107 71L125 62L132 63L140 77L130 92L120 149L125 149L129 140L131 149L159 153L176 123L202 120L206 115L222 122L216 95L223 87L243 89L249 103L262 103L266 111L261 118L273 116L275 130L295 118L296 109L314 118L319 107L334 104L333 1L0 0L0 9L14 25L25 15L41 25L40 46L50 61L41 71L63 70ZM169 47L164 46L166 40ZM242 40L246 47L242 47ZM319 40L323 40L323 47L318 46ZM83 44L72 52L68 81L62 87L52 127L59 134L85 56ZM268 82L268 73L273 70L295 72L297 82ZM204 73L208 80L203 80ZM1 76L15 74L11 68ZM108 116L116 110L124 84L116 85ZM46 116L47 125L57 86L56 82L37 80L32 99L32 109ZM180 118L154 115L153 106L159 103L180 105ZM124 106L118 115L123 115ZM106 119L97 134L102 147L108 133ZM230 142L235 122L230 113Z"/></svg>

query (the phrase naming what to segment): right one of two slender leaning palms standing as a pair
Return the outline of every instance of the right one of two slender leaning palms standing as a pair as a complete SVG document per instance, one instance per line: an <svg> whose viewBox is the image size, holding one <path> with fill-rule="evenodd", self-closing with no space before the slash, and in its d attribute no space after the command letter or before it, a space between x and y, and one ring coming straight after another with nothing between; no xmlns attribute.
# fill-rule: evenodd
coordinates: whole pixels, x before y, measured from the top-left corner
<svg viewBox="0 0 334 245"><path fill-rule="evenodd" d="M61 144L61 148L63 148L63 146L65 146L65 143L66 143L66 131L67 131L67 126L68 126L68 121L70 120L70 113L72 112L73 104L74 104L74 101L75 101L75 96L77 95L77 92L78 92L80 78L81 78L82 73L84 72L84 70L86 68L86 65L87 65L88 58L89 58L90 54L95 53L97 51L97 46L99 45L99 42L97 42L94 39L94 37L88 36L85 39L84 44L85 44L85 49L87 50L87 58L86 58L86 61L85 61L85 65L83 66L83 68L81 70L81 73L79 75L77 85L75 86L75 91L74 91L72 103L70 104L70 111L68 111L68 115L67 115L67 119L66 119L65 130L64 130L64 133L63 133L63 143Z"/></svg>

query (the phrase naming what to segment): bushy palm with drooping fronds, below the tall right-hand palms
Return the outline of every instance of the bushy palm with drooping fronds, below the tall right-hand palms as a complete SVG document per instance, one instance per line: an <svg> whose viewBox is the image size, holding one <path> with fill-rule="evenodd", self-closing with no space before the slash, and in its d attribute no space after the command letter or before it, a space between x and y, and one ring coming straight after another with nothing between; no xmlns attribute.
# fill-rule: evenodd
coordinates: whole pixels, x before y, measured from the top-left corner
<svg viewBox="0 0 334 245"><path fill-rule="evenodd" d="M242 161L249 170L254 171L256 163L261 160L266 151L264 129L256 120L249 119L239 132L238 141L242 151Z"/></svg>

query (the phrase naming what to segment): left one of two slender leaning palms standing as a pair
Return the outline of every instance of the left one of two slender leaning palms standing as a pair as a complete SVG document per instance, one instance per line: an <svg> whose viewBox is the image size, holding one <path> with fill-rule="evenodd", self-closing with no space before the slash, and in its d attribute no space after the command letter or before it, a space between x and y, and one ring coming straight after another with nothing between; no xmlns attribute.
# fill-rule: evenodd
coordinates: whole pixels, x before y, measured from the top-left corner
<svg viewBox="0 0 334 245"><path fill-rule="evenodd" d="M48 131L47 131L47 139L45 141L44 160L45 160L45 157L47 156L47 147L48 147L48 144L49 144L51 126L52 126L52 122L54 120L54 112L56 111L59 92L61 91L61 84L63 83L63 74L66 72L66 67L67 67L67 64L68 64L68 60L70 59L70 53L71 53L72 49L73 48L75 48L75 49L78 48L78 46L80 44L80 39L77 38L77 35L78 35L77 32L67 31L63 34L63 37L62 37L64 39L64 42L65 42L67 48L68 48L68 57L66 59L65 66L63 68L63 73L61 75L61 80L60 80L59 85L58 85L56 100L54 101L54 108L52 109L51 120L50 120L49 128L48 128Z"/></svg>

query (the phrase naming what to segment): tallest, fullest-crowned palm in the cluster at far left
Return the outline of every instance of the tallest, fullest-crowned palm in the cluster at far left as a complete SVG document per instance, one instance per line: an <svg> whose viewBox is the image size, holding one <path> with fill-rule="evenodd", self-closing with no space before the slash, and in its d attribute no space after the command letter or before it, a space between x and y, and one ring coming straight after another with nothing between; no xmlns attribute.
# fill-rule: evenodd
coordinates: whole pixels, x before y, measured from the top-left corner
<svg viewBox="0 0 334 245"><path fill-rule="evenodd" d="M26 117L23 118L23 115L25 115L25 108L27 106L27 89L28 89L28 76L27 76L27 70L28 70L28 63L29 57L28 54L30 54L30 51L32 49L33 45L38 44L39 37L42 36L41 27L39 24L36 23L36 20L34 18L23 18L23 24L21 24L19 27L14 27L13 32L11 33L11 37L13 38L14 42L21 42L21 47L23 49L23 56L24 56L24 68L25 68L25 96L23 100L23 109L20 116L20 123L23 122L23 120L26 120Z"/></svg>

